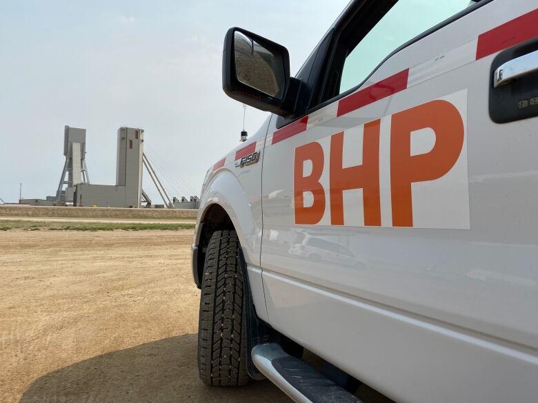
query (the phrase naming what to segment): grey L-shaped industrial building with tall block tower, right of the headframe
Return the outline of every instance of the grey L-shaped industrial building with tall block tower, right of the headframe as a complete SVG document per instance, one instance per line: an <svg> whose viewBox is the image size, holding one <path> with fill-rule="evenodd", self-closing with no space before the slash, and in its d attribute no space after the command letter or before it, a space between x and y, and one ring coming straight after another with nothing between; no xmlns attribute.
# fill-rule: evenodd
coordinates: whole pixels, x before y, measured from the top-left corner
<svg viewBox="0 0 538 403"><path fill-rule="evenodd" d="M143 133L141 129L118 129L116 185L76 186L74 205L81 207L132 207L141 205Z"/></svg>

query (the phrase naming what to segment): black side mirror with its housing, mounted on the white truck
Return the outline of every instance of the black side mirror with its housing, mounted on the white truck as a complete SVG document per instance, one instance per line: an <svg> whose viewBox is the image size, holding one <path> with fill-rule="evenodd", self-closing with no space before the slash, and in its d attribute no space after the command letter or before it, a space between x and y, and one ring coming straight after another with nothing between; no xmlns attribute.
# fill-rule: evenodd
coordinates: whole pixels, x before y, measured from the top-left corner
<svg viewBox="0 0 538 403"><path fill-rule="evenodd" d="M297 80L290 77L288 50L241 28L224 39L222 87L230 98L286 116L295 107Z"/></svg>

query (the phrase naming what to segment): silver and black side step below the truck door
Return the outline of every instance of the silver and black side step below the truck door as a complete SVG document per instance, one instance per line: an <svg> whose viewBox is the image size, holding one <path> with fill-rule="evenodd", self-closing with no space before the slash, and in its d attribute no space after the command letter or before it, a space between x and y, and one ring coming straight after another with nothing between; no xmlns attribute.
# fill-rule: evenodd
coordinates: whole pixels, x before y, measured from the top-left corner
<svg viewBox="0 0 538 403"><path fill-rule="evenodd" d="M252 361L263 375L296 403L363 403L277 343L258 344Z"/></svg>

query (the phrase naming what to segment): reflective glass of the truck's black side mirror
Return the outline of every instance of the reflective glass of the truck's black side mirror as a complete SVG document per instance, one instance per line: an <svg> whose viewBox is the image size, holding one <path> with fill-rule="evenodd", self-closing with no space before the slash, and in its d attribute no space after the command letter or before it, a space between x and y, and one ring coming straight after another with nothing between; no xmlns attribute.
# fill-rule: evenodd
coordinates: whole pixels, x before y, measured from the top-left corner
<svg viewBox="0 0 538 403"><path fill-rule="evenodd" d="M283 98L284 65L281 54L273 54L245 34L234 33L237 80L276 99Z"/></svg>

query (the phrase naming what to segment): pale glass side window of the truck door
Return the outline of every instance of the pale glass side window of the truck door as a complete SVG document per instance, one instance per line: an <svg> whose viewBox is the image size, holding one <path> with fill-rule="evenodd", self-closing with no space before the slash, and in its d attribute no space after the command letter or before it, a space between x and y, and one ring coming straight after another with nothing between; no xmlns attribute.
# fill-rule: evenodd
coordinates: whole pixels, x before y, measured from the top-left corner
<svg viewBox="0 0 538 403"><path fill-rule="evenodd" d="M393 50L478 1L399 0L358 43L343 38L339 46L347 56L338 75L339 91L332 95L359 85Z"/></svg>

